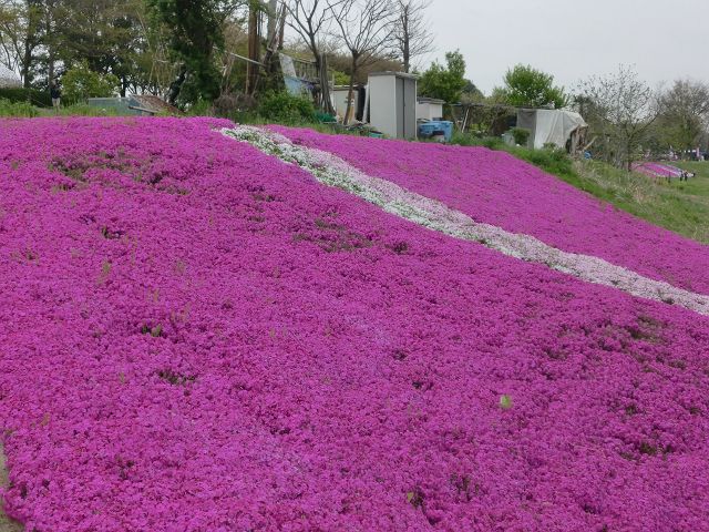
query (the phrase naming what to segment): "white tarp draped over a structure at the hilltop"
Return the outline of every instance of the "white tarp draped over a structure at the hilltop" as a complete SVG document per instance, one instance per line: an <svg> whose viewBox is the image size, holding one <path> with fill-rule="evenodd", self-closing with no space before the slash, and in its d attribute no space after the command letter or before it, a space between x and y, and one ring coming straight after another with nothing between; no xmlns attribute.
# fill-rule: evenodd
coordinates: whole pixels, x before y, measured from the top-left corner
<svg viewBox="0 0 709 532"><path fill-rule="evenodd" d="M573 111L557 109L520 110L517 126L531 130L534 147L540 150L544 144L566 147L572 134L582 127L587 127L580 114Z"/></svg>

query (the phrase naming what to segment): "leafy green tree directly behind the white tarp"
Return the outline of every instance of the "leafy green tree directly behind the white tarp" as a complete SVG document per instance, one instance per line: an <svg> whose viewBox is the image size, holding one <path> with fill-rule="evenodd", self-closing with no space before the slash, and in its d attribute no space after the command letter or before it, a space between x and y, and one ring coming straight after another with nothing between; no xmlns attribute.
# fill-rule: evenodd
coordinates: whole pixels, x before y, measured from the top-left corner
<svg viewBox="0 0 709 532"><path fill-rule="evenodd" d="M554 85L553 75L524 64L508 70L504 88L496 89L494 93L508 105L517 108L562 109L569 104L564 88Z"/></svg>

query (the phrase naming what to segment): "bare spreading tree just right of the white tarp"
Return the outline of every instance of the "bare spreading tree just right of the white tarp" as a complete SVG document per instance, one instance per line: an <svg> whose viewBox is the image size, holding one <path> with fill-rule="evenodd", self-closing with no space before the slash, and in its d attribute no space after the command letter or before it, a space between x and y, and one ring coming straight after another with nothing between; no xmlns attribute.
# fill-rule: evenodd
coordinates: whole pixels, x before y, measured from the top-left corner
<svg viewBox="0 0 709 532"><path fill-rule="evenodd" d="M631 66L624 65L615 74L589 78L579 89L586 117L607 139L610 158L631 170L649 127L660 113L657 92Z"/></svg>

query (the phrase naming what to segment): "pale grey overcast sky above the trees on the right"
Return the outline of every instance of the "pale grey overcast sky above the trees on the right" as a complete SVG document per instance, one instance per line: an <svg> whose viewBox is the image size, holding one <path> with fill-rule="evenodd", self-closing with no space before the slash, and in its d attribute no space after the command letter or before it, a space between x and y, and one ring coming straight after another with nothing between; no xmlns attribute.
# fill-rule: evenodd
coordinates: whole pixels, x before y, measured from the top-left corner
<svg viewBox="0 0 709 532"><path fill-rule="evenodd" d="M619 63L653 85L709 81L707 0L432 0L429 19L436 52L423 66L460 49L467 78L486 94L516 63L567 89Z"/></svg>

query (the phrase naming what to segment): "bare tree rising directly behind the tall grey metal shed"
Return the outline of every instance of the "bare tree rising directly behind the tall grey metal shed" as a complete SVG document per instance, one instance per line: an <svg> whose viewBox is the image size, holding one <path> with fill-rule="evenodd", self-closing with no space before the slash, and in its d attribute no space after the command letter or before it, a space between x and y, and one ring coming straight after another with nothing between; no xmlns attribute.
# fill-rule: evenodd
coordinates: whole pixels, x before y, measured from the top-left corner
<svg viewBox="0 0 709 532"><path fill-rule="evenodd" d="M429 31L425 10L432 0L395 0L397 21L393 40L403 71L411 71L414 58L435 50L433 34Z"/></svg>

